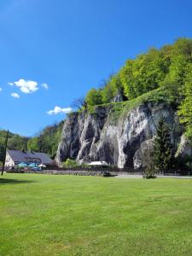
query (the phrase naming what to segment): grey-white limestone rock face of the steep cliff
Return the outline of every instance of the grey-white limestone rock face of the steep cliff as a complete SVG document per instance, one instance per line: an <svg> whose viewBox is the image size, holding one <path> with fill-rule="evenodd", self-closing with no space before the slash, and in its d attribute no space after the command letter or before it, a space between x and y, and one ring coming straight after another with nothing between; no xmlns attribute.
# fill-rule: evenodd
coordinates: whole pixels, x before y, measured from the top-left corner
<svg viewBox="0 0 192 256"><path fill-rule="evenodd" d="M95 113L71 113L64 122L55 160L58 165L71 158L79 163L105 160L119 168L142 168L160 116L171 127L177 151L183 133L177 113L165 103L148 102L116 113L115 119L112 107L96 108Z"/></svg>

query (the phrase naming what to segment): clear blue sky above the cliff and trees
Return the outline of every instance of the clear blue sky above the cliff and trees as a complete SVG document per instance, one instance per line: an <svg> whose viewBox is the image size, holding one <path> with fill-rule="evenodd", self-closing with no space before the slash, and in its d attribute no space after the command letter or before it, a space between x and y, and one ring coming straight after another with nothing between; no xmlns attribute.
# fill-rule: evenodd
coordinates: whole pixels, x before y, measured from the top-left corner
<svg viewBox="0 0 192 256"><path fill-rule="evenodd" d="M32 136L126 59L192 38L192 1L1 0L0 34L0 128Z"/></svg>

